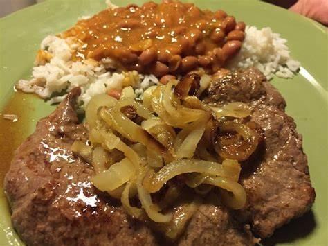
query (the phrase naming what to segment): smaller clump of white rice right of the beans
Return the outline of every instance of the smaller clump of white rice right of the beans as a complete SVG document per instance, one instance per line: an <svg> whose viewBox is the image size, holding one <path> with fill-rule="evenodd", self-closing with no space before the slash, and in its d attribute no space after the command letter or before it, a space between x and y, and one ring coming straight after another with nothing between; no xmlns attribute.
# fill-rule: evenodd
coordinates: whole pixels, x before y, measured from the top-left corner
<svg viewBox="0 0 328 246"><path fill-rule="evenodd" d="M239 54L230 62L230 68L257 67L266 78L275 74L281 78L292 78L300 68L300 62L293 60L286 46L286 39L271 28L261 30L246 26L246 37Z"/></svg>

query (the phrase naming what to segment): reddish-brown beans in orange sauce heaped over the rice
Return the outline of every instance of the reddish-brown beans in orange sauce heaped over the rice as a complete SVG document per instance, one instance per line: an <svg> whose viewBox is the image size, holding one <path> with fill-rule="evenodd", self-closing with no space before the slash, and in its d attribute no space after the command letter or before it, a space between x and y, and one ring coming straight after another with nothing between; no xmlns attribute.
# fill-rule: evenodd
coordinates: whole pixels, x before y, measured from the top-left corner
<svg viewBox="0 0 328 246"><path fill-rule="evenodd" d="M104 10L78 21L62 37L81 44L73 60L111 58L122 69L162 77L197 67L215 73L239 51L244 26L223 10L200 10L179 1L147 2Z"/></svg>

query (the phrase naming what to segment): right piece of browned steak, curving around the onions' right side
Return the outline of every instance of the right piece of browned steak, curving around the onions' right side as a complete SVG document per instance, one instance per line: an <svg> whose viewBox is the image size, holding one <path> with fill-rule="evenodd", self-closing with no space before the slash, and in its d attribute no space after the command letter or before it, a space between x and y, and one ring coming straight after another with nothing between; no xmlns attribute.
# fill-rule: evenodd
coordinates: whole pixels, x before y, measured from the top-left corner
<svg viewBox="0 0 328 246"><path fill-rule="evenodd" d="M262 151L242 168L247 203L237 211L236 218L250 223L257 236L267 238L278 227L309 211L316 195L302 136L296 132L293 118L284 112L284 98L263 73L250 68L212 82L206 100L247 103L252 109L250 121L264 130Z"/></svg>

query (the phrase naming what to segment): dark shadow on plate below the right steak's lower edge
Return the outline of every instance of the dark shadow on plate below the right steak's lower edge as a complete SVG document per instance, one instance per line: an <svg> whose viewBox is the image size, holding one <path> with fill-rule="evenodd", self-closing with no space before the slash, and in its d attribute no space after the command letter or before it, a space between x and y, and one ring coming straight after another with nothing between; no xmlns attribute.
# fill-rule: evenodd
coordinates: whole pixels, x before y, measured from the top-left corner
<svg viewBox="0 0 328 246"><path fill-rule="evenodd" d="M289 224L277 229L271 238L262 240L262 245L273 246L277 243L292 243L294 240L307 237L314 228L316 228L316 218L313 212L309 211L304 216L291 220Z"/></svg>

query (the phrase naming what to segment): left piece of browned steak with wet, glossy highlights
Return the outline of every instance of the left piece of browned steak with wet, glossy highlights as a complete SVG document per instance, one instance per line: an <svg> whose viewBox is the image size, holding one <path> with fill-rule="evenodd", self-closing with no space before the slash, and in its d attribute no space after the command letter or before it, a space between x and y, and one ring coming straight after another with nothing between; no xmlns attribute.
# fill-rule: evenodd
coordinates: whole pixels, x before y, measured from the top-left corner
<svg viewBox="0 0 328 246"><path fill-rule="evenodd" d="M80 89L73 89L15 152L5 179L15 229L27 245L166 244L98 191L89 182L93 167L73 155L73 141L88 137L75 112L79 95ZM202 205L188 228L181 245L255 241L249 227L221 205Z"/></svg>

